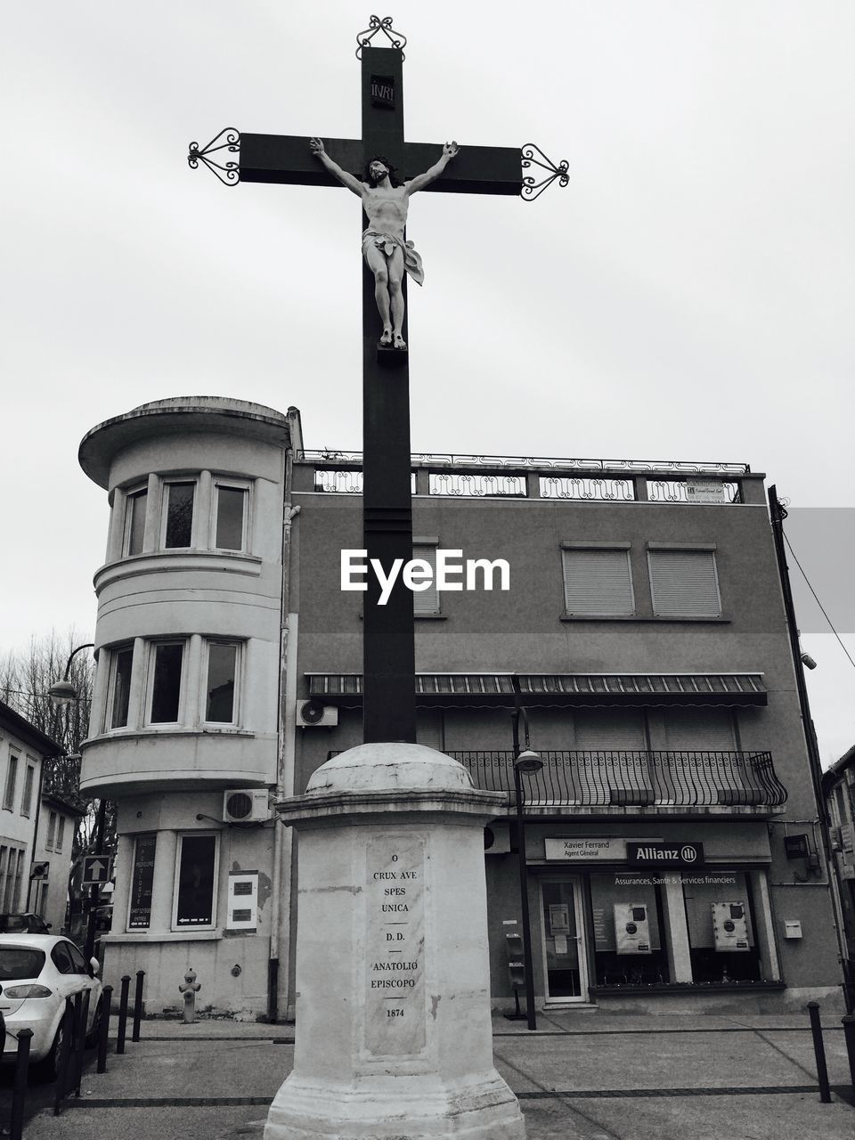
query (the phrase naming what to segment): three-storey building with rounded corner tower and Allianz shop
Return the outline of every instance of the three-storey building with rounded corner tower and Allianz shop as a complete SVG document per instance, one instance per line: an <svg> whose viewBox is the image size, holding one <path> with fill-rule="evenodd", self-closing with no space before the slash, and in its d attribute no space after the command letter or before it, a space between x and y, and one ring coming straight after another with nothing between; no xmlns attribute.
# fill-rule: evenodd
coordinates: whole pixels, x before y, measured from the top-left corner
<svg viewBox="0 0 855 1140"><path fill-rule="evenodd" d="M199 397L99 424L80 459L111 504L81 781L117 804L105 972L144 969L158 1011L192 966L203 1008L285 1017L298 860L270 804L361 742L363 594L341 588L361 457L306 450L295 408ZM418 741L506 793L484 837L494 1004L521 921L520 707L544 764L522 777L539 1004L839 1000L764 477L423 455L413 518L427 565L510 567L507 591L482 568L414 595Z"/></svg>

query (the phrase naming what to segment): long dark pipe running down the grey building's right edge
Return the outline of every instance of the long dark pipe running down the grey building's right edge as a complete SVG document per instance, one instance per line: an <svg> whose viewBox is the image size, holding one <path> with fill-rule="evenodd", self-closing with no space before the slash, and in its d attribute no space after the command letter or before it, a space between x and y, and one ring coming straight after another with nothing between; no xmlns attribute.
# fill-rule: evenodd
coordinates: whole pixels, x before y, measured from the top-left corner
<svg viewBox="0 0 855 1140"><path fill-rule="evenodd" d="M811 716L811 702L807 697L807 682L805 670L801 665L801 646L799 645L799 632L796 625L796 606L792 602L792 589L790 587L790 572L787 565L787 552L783 537L783 521L787 518L787 510L777 498L775 486L768 489L769 518L772 521L772 536L775 544L775 557L777 560L777 572L781 579L781 592L783 594L784 613L787 614L787 632L790 638L790 653L792 654L792 667L796 670L796 690L801 709L801 727L805 733L805 744L807 746L808 767L811 768L811 782L816 800L816 814L820 821L820 836L822 838L822 850L825 862L825 878L831 898L831 914L837 934L838 960L842 970L846 960L846 943L844 942L842 914L840 898L837 894L837 880L833 873L831 855L831 839L829 836L829 817L825 809L825 799L822 795L822 759L820 758L820 746L816 742L816 730ZM844 979L844 999L847 1010L849 1008L849 988L846 985L848 978Z"/></svg>

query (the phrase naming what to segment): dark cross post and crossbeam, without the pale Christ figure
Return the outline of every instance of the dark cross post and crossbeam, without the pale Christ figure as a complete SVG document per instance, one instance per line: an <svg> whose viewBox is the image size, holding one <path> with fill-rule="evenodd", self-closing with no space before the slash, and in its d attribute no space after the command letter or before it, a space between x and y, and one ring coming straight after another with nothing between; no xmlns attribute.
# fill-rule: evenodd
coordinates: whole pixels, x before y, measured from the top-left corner
<svg viewBox="0 0 855 1140"><path fill-rule="evenodd" d="M404 140L402 51L398 47L365 46L361 41L358 55L361 58L363 137L331 139L323 136L327 154L360 180L366 162L377 154L385 155L397 166L401 180L422 173L440 157L442 145ZM341 186L314 156L308 137L241 132L239 147L242 182ZM194 165L193 148L189 157ZM204 153L197 150L196 157L204 158ZM227 174L227 179L237 180L234 172ZM221 178L222 181L227 179ZM425 189L439 194L519 195L522 189L520 148L470 146L464 141L441 177ZM366 225L363 214L361 228ZM430 259L430 251L426 252ZM359 255L359 241L355 239L353 256ZM378 350L381 325L374 277L367 267L363 269L364 545L368 559L378 559L388 572L394 559L406 563L413 557L409 366L407 352ZM404 336L409 342L406 325ZM393 367L389 367L390 364ZM413 594L399 576L386 605L378 605L380 586L374 575L367 577L368 592L363 595L364 739L366 743L414 742Z"/></svg>

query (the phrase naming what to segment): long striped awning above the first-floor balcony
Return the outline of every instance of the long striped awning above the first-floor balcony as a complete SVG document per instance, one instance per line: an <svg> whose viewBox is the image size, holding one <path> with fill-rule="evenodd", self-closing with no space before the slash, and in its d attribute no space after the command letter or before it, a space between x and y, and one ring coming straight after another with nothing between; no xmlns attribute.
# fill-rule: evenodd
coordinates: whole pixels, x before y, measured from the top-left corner
<svg viewBox="0 0 855 1140"><path fill-rule="evenodd" d="M328 705L363 703L360 673L307 673L309 695ZM421 707L766 705L760 673L417 673Z"/></svg>

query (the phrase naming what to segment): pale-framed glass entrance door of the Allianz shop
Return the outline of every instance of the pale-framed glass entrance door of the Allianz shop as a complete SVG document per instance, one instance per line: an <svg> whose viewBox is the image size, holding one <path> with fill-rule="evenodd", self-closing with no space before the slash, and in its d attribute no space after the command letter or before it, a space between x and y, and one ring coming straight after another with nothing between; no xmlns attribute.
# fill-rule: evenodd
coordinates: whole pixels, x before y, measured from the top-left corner
<svg viewBox="0 0 855 1140"><path fill-rule="evenodd" d="M544 977L546 1003L588 1001L579 876L542 879Z"/></svg>

